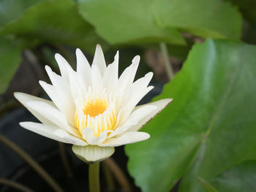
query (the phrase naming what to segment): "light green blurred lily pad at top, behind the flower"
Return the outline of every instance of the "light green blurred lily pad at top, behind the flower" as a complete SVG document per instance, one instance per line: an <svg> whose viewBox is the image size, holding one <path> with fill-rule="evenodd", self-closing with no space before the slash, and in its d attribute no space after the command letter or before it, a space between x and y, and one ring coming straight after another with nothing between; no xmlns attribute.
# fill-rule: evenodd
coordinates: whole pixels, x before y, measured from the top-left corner
<svg viewBox="0 0 256 192"><path fill-rule="evenodd" d="M78 0L81 15L110 43L182 44L177 30L201 37L239 38L241 15L221 0Z"/></svg>

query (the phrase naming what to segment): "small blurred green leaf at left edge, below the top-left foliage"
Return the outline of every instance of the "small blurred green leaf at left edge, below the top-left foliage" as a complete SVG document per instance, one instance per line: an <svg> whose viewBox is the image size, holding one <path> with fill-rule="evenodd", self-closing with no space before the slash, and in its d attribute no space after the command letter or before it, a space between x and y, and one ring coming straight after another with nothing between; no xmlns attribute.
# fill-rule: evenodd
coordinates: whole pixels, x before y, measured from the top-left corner
<svg viewBox="0 0 256 192"><path fill-rule="evenodd" d="M8 39L0 39L0 94L8 88L21 62L21 51Z"/></svg>

